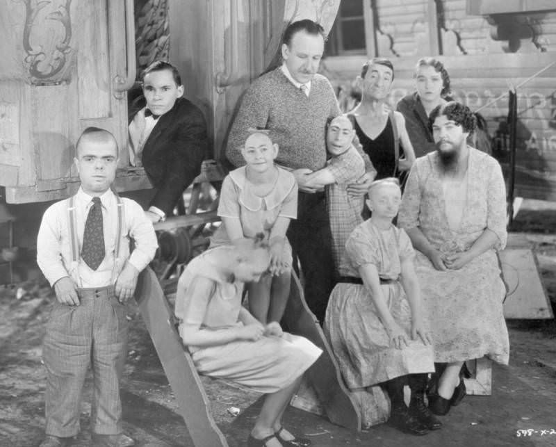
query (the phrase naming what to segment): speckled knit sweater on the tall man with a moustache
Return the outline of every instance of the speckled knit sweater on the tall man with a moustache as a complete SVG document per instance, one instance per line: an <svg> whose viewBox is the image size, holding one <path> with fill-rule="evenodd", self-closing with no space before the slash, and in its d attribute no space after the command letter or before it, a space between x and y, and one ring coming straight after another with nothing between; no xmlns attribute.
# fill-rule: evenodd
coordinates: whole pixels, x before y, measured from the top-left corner
<svg viewBox="0 0 556 447"><path fill-rule="evenodd" d="M279 147L279 165L319 170L327 158L326 122L339 114L334 90L325 76L313 76L307 97L278 67L256 79L245 92L229 133L226 156L234 165L244 165L240 150L247 129L268 129L272 143Z"/></svg>

